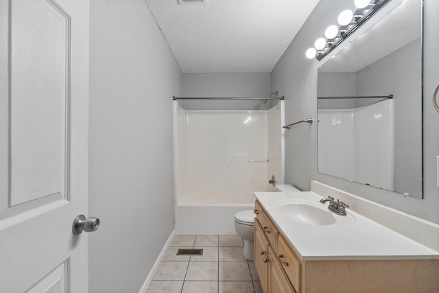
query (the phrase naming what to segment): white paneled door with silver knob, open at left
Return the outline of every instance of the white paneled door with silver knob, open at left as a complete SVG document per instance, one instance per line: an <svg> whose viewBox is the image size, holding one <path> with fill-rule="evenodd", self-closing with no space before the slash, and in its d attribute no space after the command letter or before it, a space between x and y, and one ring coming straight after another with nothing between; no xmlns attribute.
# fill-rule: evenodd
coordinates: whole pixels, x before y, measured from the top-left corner
<svg viewBox="0 0 439 293"><path fill-rule="evenodd" d="M0 292L88 292L88 0L0 0Z"/></svg>

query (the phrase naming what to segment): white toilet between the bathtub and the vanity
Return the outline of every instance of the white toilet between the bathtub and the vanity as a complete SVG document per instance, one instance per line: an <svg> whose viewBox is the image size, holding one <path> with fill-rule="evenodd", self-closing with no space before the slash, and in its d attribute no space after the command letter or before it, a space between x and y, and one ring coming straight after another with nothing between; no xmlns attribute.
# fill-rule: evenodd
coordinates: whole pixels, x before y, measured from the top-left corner
<svg viewBox="0 0 439 293"><path fill-rule="evenodd" d="M276 191L300 191L296 187L287 184L276 185ZM254 247L254 211L239 211L235 214L235 231L244 240L242 255L249 261L253 260Z"/></svg>

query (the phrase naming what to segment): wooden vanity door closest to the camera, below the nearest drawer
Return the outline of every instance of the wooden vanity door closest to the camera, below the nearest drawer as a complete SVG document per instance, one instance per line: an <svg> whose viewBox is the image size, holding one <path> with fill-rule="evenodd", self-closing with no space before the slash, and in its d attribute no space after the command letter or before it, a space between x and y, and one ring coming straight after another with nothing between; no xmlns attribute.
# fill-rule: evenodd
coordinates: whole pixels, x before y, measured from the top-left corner
<svg viewBox="0 0 439 293"><path fill-rule="evenodd" d="M271 293L296 293L289 279L285 274L281 263L279 263L276 253L274 250L268 248L268 259L270 263L268 264L269 280L268 280L268 292Z"/></svg>

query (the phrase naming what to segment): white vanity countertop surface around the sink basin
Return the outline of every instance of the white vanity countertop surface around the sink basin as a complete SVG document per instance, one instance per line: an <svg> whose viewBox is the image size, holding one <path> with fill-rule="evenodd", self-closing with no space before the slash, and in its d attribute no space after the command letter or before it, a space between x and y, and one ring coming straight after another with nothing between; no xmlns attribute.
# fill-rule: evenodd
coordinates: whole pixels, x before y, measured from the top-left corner
<svg viewBox="0 0 439 293"><path fill-rule="evenodd" d="M324 226L297 222L281 213L281 204L288 200L318 202L322 196L312 191L254 195L303 260L439 259L438 251L350 209L347 216L337 215L327 210L328 203L322 204L336 218L334 224Z"/></svg>

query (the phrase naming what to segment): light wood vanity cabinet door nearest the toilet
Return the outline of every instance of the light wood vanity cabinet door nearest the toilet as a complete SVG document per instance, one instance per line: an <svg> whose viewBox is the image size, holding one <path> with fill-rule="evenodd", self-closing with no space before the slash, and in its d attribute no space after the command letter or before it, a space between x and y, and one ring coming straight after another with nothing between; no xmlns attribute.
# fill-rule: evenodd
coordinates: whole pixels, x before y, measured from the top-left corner
<svg viewBox="0 0 439 293"><path fill-rule="evenodd" d="M254 221L254 266L263 292L268 292L268 240L258 220Z"/></svg>

